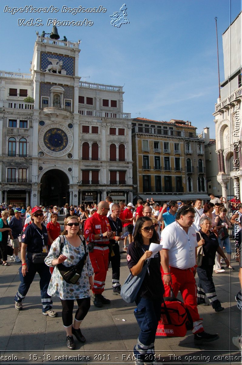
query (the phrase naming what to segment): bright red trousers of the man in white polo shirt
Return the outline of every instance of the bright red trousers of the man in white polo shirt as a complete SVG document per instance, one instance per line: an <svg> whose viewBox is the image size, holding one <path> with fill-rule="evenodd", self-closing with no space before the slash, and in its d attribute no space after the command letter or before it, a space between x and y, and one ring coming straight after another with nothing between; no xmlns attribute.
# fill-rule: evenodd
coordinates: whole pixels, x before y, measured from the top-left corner
<svg viewBox="0 0 242 365"><path fill-rule="evenodd" d="M180 291L184 304L191 314L193 319L193 333L203 331L202 318L200 318L197 308L197 285L193 274L194 268L181 270L170 266L170 274L172 278L172 291L174 296ZM163 270L162 270L163 278ZM170 287L164 284L164 297L171 296Z"/></svg>

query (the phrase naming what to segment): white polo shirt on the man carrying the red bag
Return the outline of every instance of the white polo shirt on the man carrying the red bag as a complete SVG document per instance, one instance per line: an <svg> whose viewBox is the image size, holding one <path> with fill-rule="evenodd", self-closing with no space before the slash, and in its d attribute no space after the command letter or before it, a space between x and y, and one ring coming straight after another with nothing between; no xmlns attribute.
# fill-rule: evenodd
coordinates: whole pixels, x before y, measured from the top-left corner
<svg viewBox="0 0 242 365"><path fill-rule="evenodd" d="M193 227L185 230L178 222L166 226L162 233L160 244L162 249L169 250L169 265L178 269L189 269L196 265L197 236Z"/></svg>

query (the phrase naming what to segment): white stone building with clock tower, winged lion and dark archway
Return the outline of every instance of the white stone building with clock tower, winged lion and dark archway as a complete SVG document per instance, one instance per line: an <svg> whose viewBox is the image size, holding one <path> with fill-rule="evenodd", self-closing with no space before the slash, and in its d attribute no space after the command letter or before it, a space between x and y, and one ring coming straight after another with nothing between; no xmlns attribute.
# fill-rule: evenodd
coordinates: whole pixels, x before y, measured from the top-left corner
<svg viewBox="0 0 242 365"><path fill-rule="evenodd" d="M0 201L132 201L123 89L80 80L79 43L37 37L29 74L0 71Z"/></svg>

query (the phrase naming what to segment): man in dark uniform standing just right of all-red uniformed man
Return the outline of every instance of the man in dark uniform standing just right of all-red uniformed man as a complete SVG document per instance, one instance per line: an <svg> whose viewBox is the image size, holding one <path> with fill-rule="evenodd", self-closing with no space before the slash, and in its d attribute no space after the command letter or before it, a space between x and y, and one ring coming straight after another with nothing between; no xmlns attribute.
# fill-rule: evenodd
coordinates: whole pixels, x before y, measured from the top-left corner
<svg viewBox="0 0 242 365"><path fill-rule="evenodd" d="M119 283L120 277L120 252L119 244L122 235L122 222L118 218L121 212L119 204L113 204L111 207L112 214L108 216L113 235L110 238L110 245L112 251L109 253L109 264L112 265L112 288L114 295L120 295L121 285Z"/></svg>

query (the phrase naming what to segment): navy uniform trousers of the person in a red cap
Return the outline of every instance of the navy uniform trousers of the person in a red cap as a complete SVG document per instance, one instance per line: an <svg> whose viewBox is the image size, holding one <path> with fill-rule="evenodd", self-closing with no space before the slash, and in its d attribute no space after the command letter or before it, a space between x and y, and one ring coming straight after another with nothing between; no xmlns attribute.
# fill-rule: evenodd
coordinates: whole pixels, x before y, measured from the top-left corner
<svg viewBox="0 0 242 365"><path fill-rule="evenodd" d="M41 294L41 302L42 302L42 312L46 312L52 308L52 299L51 296L47 294L47 289L49 285L49 281L51 280L51 273L49 271L49 267L43 264L33 264L31 260L26 260L28 272L26 276L22 274L22 268L19 268L19 277L20 277L20 285L19 289L15 295L15 301L21 302L26 294L28 293L28 289L33 282L35 274L38 273L40 276L40 294Z"/></svg>

